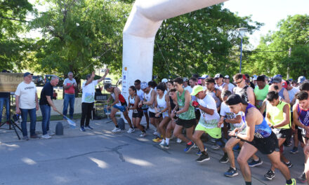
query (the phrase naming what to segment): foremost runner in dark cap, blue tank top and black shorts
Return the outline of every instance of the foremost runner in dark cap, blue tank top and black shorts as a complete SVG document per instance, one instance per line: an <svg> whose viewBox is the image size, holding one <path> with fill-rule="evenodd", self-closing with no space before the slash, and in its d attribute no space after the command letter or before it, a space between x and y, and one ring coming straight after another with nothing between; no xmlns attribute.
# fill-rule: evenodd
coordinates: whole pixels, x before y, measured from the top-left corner
<svg viewBox="0 0 309 185"><path fill-rule="evenodd" d="M296 184L296 180L291 179L289 168L280 160L277 137L265 121L265 118L263 118L261 112L254 105L244 102L239 95L228 97L226 104L235 114L238 114L239 111L244 112L242 120L246 123L246 134L240 133L242 131L241 128L235 128L229 135L246 141L237 157L237 162L239 163L240 170L242 170L242 176L246 185L251 184L251 170L247 161L256 151L261 151L261 153L268 156L272 165L275 165L283 174L287 184Z"/></svg>

